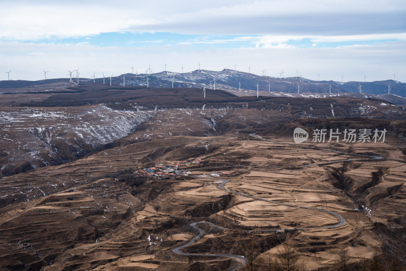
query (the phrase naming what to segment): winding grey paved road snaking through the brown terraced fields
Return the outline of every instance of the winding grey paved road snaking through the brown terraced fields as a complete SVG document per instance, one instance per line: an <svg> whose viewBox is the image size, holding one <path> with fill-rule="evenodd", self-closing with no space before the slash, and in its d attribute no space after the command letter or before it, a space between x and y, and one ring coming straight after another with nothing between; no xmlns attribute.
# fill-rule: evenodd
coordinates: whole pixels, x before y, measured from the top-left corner
<svg viewBox="0 0 406 271"><path fill-rule="evenodd" d="M273 142L273 143L277 143L277 144L285 144L285 145L294 145L294 146L297 146L297 145L295 145L295 144L280 143L280 142L277 142L277 141L274 141L274 140L264 139L264 138L262 138L262 137L256 136L255 134L250 134L250 136L255 137L255 138L257 138L257 139L260 139L260 140L265 140L265 141L269 141L269 142ZM368 160L379 160L379 159L382 159L382 157L380 157L380 156L368 156L368 155L349 154L349 153L340 152L339 150L328 149L328 148L319 148L319 147L304 146L304 145L302 145L301 147L328 150L328 151L330 151L330 152L336 152L336 153L341 153L341 154L351 155L351 156L364 156L364 157L369 157ZM345 161L359 161L359 160L365 160L365 159L339 160L339 161L334 161L334 163L337 163L337 162L345 162ZM301 166L314 166L314 165L324 165L324 164L331 164L331 163L332 163L332 162L317 163L317 164L307 164L307 165L301 165ZM218 178L216 178L216 179L218 179ZM245 196L245 197L249 197L249 198L253 198L253 199L258 199L258 200L262 200L262 201L266 201L266 202L270 202L270 203L274 203L274 204L289 206L289 207L303 208L303 209L309 209L309 210L317 210L317 211L320 211L320 212L325 212L325 213L328 213L328 214L330 214L330 215L333 215L333 216L335 216L337 219L339 219L339 222L336 223L336 224L334 224L334 225L320 226L320 227L308 227L308 228L294 228L295 230L336 228L336 227L340 227L341 225L343 225L343 224L345 223L345 219L344 219L342 216L340 216L340 215L337 214L337 213L331 212L331 211L329 211L329 210L319 209L319 208L315 208L315 207L306 207L306 206L294 205L294 204L289 204L289 203L282 203L282 202L278 202L278 201L263 199L263 198L260 198L260 197L252 196L252 195L245 194L245 193L241 193L241 192L236 192L236 191L233 191L233 190L224 188L224 185L228 182L226 179L220 179L220 180L222 180L222 183L219 185L219 189L222 189L222 190L224 190L224 191L227 191L227 192L230 192L230 193L233 193L233 194L242 195L242 196ZM175 253L177 253L177 254L180 254L180 255L185 255L185 256L229 257L229 258L234 258L234 259L238 259L238 260L242 260L242 261L243 261L242 264L240 264L240 265L237 266L237 267L234 267L233 269L231 269L231 271L234 271L234 270L240 268L241 266L243 266L244 264L247 263L247 259L246 259L244 256L239 256L239 255L229 255L229 254L195 254L195 253L183 253L183 252L181 252L181 251L180 251L181 249L183 249L183 248L185 248L185 247L188 247L188 246L194 244L198 239L200 239L202 236L204 236L205 233L204 233L201 229L199 229L198 227L196 227L196 224L197 224L197 223L205 223L205 224L209 224L209 225L211 225L211 226L213 226L213 227L216 227L216 228L219 228L219 229L222 229L222 230L227 230L226 228L217 226L217 225L215 225L215 224L213 224L213 223L210 223L210 222L193 222L193 223L190 224L190 226L192 226L194 229L198 230L199 234L198 234L196 237L194 237L192 240L190 240L188 243L186 243L186 244L184 244L184 245L182 245L182 246L179 246L179 247L173 249L173 250L172 250L173 252L175 252ZM254 232L254 231L284 231L284 230L289 230L289 229L292 229L292 228L264 229L264 230L248 230L248 232Z"/></svg>

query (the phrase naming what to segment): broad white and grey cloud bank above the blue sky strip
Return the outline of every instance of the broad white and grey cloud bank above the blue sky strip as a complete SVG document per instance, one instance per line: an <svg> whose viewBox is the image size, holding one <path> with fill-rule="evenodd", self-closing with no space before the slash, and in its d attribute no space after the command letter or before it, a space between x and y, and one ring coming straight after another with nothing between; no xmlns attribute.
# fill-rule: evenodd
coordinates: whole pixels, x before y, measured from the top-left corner
<svg viewBox="0 0 406 271"><path fill-rule="evenodd" d="M278 34L404 32L403 0L2 1L0 39L99 33ZM340 28L341 27L341 28ZM394 29L393 27L396 27ZM403 31L402 31L403 29Z"/></svg>

